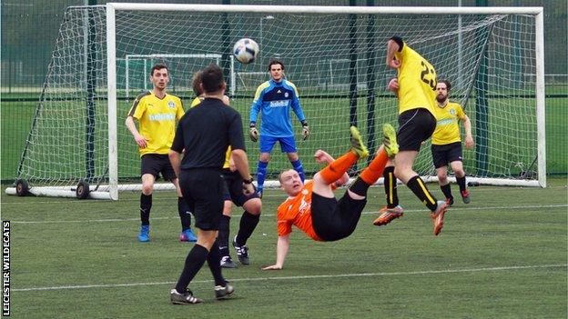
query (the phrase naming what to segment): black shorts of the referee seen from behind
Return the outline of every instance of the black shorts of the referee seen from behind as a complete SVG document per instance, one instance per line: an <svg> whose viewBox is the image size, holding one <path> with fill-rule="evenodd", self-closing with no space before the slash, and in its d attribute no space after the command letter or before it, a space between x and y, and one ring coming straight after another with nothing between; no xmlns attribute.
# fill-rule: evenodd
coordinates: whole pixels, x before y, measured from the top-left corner
<svg viewBox="0 0 568 319"><path fill-rule="evenodd" d="M218 169L194 168L181 170L181 193L201 230L218 230L223 214L223 187L225 181Z"/></svg>

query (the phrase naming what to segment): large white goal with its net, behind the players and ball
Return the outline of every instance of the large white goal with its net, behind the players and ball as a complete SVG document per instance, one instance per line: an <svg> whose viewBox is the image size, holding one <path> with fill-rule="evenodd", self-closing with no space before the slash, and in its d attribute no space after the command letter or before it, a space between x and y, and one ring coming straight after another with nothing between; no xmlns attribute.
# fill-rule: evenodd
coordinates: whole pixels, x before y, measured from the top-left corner
<svg viewBox="0 0 568 319"><path fill-rule="evenodd" d="M153 63L169 66L169 92L186 108L194 97L191 75L209 63L220 65L231 106L247 127L254 91L268 80L272 57L284 62L299 89L312 135L297 138L297 145L310 177L320 169L312 160L317 149L336 156L347 150L350 125L360 128L371 152L380 145L383 123L398 126L397 100L386 89L396 75L385 65L392 35L427 58L439 79L451 81L451 100L472 119L475 148L463 154L469 180L545 186L540 7L69 7L16 177L34 194L76 195L82 182L92 197L116 199L117 190L139 187L137 145L124 120L133 98L151 89ZM253 64L231 58L242 37L259 43ZM254 173L258 145L246 139ZM275 148L269 175L289 167ZM415 170L435 176L429 141Z"/></svg>

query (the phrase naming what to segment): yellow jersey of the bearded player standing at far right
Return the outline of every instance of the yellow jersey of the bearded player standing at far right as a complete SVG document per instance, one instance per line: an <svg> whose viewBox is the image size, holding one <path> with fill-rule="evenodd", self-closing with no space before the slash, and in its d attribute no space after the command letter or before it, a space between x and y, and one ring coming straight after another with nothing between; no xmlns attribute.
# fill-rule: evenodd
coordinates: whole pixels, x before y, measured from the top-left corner
<svg viewBox="0 0 568 319"><path fill-rule="evenodd" d="M462 105L448 102L444 107L436 104L436 130L432 135L433 145L461 142L459 121L465 119Z"/></svg>

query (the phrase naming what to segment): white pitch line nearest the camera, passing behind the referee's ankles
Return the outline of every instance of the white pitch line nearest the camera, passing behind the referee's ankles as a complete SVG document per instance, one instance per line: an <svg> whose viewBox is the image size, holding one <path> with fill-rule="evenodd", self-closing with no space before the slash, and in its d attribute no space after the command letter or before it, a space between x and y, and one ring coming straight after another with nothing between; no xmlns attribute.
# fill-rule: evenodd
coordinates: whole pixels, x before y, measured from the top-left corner
<svg viewBox="0 0 568 319"><path fill-rule="evenodd" d="M279 277L259 277L259 278L232 278L231 282L259 282L272 280L298 280L298 279L320 279L320 278L349 278L349 277L375 277L375 276L396 276L396 275L412 275L412 274L459 274L459 273L480 273L495 272L506 270L522 270L522 269L538 269L538 268L560 268L566 267L568 264L536 264L536 265L517 265L517 266L499 266L487 268L465 268L465 269L445 269L445 270L425 270L417 272L394 272L394 273L363 273L363 274L314 274L314 275L293 275ZM198 280L192 284L207 284L211 280ZM131 283L131 284L85 284L85 285L61 285L51 287L33 287L12 289L14 292L29 291L46 291L46 290L66 290L66 289L90 289L90 288L117 288L117 287L133 287L139 285L165 285L176 284L176 282L155 282L155 283Z"/></svg>

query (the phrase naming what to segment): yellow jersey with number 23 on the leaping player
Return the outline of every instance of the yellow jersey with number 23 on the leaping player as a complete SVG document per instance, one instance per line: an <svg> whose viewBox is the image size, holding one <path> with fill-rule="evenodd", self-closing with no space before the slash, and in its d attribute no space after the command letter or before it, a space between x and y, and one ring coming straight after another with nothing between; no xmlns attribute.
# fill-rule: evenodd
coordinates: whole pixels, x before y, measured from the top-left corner
<svg viewBox="0 0 568 319"><path fill-rule="evenodd" d="M399 114L415 108L425 108L436 115L436 70L425 58L406 43L394 57L401 61L398 68Z"/></svg>

